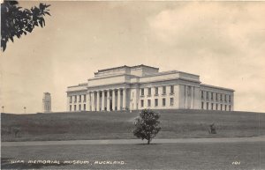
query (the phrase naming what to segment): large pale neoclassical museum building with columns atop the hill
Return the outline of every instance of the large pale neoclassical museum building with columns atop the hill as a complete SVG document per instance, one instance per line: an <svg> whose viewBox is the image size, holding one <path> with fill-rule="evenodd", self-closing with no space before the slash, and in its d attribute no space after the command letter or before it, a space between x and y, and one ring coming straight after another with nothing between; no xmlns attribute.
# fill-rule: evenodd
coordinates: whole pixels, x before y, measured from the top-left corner
<svg viewBox="0 0 265 170"><path fill-rule="evenodd" d="M234 90L201 84L200 76L147 65L98 70L67 87L68 111L206 109L232 111Z"/></svg>

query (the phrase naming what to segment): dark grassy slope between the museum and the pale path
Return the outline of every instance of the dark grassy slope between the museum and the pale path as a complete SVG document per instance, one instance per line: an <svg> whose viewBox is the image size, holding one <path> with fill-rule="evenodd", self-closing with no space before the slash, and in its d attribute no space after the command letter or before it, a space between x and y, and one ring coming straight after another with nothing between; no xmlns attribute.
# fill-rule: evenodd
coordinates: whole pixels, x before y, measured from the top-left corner
<svg viewBox="0 0 265 170"><path fill-rule="evenodd" d="M162 131L157 138L265 136L265 114L206 110L157 110ZM134 138L139 112L76 112L34 115L1 114L2 141ZM217 134L208 134L216 124ZM19 129L17 137L11 129Z"/></svg>

